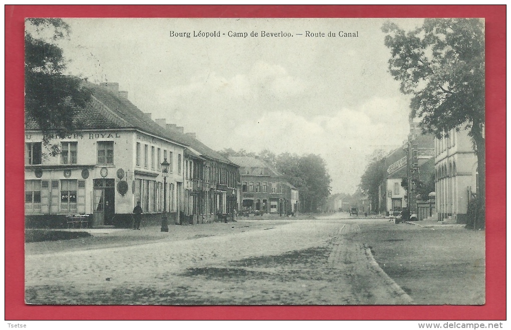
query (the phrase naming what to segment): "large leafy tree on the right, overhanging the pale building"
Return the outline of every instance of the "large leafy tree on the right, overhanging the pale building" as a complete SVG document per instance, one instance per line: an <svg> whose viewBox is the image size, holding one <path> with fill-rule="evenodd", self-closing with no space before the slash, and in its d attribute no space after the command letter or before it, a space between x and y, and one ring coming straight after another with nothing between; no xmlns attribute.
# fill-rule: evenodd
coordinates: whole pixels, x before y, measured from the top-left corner
<svg viewBox="0 0 511 330"><path fill-rule="evenodd" d="M478 162L479 196L485 197L484 21L477 18L427 18L405 32L387 22L389 70L410 94L411 116L424 132L446 137L468 130ZM484 219L484 209L479 217Z"/></svg>

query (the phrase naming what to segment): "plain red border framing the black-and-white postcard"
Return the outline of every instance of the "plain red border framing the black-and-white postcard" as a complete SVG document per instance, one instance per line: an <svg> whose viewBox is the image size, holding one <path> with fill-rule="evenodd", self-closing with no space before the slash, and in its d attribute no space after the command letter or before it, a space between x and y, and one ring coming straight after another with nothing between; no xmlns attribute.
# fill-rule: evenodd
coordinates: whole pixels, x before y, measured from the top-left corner
<svg viewBox="0 0 511 330"><path fill-rule="evenodd" d="M5 6L6 320L505 320L505 5ZM483 306L31 306L24 302L25 17L482 17L486 22L486 304Z"/></svg>

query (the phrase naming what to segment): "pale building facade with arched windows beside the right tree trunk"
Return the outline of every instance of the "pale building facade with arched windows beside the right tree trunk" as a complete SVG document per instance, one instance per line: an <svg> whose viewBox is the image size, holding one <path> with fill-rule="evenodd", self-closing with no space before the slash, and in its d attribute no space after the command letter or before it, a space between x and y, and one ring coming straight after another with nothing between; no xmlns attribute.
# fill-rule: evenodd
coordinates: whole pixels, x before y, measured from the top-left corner
<svg viewBox="0 0 511 330"><path fill-rule="evenodd" d="M477 156L467 131L451 130L435 139L435 192L439 221L467 222L470 199L478 191Z"/></svg>

